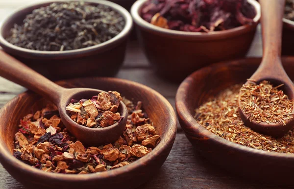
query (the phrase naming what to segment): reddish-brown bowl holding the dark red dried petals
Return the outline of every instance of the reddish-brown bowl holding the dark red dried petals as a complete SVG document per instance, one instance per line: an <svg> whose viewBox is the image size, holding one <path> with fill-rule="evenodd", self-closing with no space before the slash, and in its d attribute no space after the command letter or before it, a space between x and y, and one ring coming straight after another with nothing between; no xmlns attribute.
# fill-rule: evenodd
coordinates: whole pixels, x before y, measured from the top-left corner
<svg viewBox="0 0 294 189"><path fill-rule="evenodd" d="M131 8L138 38L154 70L172 81L182 81L211 63L245 56L260 19L259 3L248 0L257 12L252 25L210 33L175 31L154 26L141 18L146 1L137 0Z"/></svg>

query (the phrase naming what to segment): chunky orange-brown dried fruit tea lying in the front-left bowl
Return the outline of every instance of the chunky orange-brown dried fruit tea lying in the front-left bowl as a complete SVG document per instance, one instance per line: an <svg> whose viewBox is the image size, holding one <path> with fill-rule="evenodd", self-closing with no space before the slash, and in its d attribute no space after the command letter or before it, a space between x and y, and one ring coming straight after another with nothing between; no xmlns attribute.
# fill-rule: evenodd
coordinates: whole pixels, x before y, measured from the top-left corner
<svg viewBox="0 0 294 189"><path fill-rule="evenodd" d="M114 143L84 146L64 127L53 104L28 114L15 134L13 156L46 172L85 174L106 171L142 158L160 141L155 128L142 111L123 98L128 109L126 129Z"/></svg>

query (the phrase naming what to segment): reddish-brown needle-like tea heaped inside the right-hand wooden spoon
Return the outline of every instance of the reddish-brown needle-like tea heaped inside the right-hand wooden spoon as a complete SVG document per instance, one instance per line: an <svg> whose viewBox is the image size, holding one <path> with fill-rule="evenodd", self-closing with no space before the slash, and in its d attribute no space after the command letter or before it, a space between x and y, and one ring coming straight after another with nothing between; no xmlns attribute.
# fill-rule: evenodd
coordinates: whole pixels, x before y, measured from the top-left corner
<svg viewBox="0 0 294 189"><path fill-rule="evenodd" d="M241 109L247 119L256 122L283 123L293 118L292 108L293 100L278 88L273 87L269 81L262 81L256 84L254 81L248 81L248 84L242 86L240 93Z"/></svg>

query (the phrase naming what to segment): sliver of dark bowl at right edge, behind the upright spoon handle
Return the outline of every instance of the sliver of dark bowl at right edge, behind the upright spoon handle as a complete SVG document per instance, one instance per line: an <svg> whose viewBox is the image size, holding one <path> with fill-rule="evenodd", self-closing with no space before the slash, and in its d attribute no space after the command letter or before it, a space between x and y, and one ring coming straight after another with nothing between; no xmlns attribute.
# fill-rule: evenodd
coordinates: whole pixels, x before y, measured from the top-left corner
<svg viewBox="0 0 294 189"><path fill-rule="evenodd" d="M294 22L283 19L282 55L294 55Z"/></svg>

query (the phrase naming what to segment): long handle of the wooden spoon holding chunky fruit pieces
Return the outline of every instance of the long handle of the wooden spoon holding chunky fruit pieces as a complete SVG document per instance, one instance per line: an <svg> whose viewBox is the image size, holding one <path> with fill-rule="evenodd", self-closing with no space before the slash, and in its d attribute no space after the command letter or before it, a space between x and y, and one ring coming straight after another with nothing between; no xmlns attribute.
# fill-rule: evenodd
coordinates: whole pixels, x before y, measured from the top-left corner
<svg viewBox="0 0 294 189"><path fill-rule="evenodd" d="M20 61L0 50L0 76L24 86L58 103L63 87L33 71Z"/></svg>

